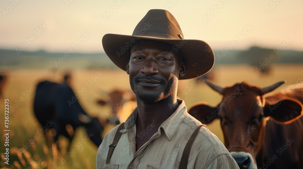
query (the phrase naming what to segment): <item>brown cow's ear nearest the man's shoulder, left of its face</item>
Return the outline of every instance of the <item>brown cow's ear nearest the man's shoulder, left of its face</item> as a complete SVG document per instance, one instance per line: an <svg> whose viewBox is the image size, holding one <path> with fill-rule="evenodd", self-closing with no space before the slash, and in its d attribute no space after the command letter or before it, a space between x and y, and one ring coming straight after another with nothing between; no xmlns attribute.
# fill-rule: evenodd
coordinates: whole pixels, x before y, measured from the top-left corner
<svg viewBox="0 0 303 169"><path fill-rule="evenodd" d="M219 110L216 107L210 107L206 105L205 102L200 102L192 106L188 113L195 117L203 124L211 123L215 118L217 118Z"/></svg>

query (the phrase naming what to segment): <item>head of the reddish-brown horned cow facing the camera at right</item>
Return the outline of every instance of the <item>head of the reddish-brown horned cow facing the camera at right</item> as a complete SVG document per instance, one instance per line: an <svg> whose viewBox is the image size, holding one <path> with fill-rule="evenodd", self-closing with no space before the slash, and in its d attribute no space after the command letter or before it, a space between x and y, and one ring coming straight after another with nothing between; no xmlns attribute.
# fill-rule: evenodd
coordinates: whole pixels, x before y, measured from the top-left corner
<svg viewBox="0 0 303 169"><path fill-rule="evenodd" d="M205 82L223 95L221 103L217 107L200 103L191 107L188 113L204 124L215 118L221 120L225 146L240 168L257 168L255 158L264 142L268 119L285 124L302 116L302 104L298 100L281 97L270 102L263 97L284 81L266 88L245 82L221 88L207 80Z"/></svg>

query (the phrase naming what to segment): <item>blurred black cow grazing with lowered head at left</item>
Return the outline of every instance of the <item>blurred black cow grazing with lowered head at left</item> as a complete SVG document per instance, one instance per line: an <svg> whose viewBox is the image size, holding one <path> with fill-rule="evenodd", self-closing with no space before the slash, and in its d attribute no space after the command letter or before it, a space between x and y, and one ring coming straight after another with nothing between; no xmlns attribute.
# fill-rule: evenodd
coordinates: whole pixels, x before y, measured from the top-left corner
<svg viewBox="0 0 303 169"><path fill-rule="evenodd" d="M72 141L72 131L79 126L86 127L87 136L95 145L99 146L102 142L103 126L97 118L91 118L85 113L72 88L66 84L40 82L36 89L34 112L44 128L56 130L54 142L58 141L60 134Z"/></svg>

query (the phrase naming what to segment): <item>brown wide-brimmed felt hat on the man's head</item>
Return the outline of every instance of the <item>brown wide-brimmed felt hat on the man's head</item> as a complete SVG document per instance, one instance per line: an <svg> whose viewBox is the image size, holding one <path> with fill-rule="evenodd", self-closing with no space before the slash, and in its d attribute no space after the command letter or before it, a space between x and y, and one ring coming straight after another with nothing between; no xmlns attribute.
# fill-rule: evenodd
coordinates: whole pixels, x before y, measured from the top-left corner
<svg viewBox="0 0 303 169"><path fill-rule="evenodd" d="M195 23L192 23L195 26ZM121 69L126 69L130 47L138 40L158 40L173 45L181 51L187 62L187 72L179 79L197 78L209 72L215 56L211 47L202 40L183 38L175 17L163 9L151 9L135 27L132 35L105 34L102 44L107 56Z"/></svg>

